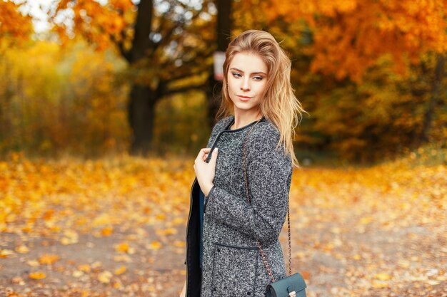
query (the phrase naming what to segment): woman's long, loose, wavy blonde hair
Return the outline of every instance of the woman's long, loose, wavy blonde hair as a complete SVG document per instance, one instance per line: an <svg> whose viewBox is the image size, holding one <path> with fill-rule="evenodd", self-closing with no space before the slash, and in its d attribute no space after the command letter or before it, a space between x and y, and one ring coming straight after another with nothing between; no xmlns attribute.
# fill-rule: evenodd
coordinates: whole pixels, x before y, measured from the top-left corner
<svg viewBox="0 0 447 297"><path fill-rule="evenodd" d="M283 143L286 154L291 155L292 165L299 167L293 151L293 139L296 136L295 127L299 125L303 118L302 113L306 111L293 93L290 82L291 60L270 33L259 30L244 31L228 45L224 62L222 100L216 119L233 112L233 101L228 95L226 80L228 67L237 53L256 54L266 63L268 80L260 103L261 113L279 130L280 137L276 148Z"/></svg>

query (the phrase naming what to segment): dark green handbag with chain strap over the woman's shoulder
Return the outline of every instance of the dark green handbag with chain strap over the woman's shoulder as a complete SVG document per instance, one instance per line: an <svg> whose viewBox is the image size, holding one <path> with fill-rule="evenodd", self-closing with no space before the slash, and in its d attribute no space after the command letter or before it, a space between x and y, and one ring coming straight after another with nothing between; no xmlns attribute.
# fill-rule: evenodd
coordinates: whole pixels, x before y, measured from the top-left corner
<svg viewBox="0 0 447 297"><path fill-rule="evenodd" d="M258 120L259 123L260 120ZM258 124L256 123L256 124ZM251 130L253 129L253 125L250 130L247 132L246 139L243 143L243 173L245 175L245 184L246 184L246 191L247 191L247 199L248 204L250 204L250 196L248 195L248 179L247 179L247 172L246 172L246 140L248 138L248 135L250 134ZM262 250L261 243L256 239L258 242L259 251L261 252L261 256L263 259L263 262L266 266L268 276L270 276L271 283L269 283L266 287L266 297L306 297L306 283L304 282L303 276L301 276L300 273L293 273L292 274L292 257L291 257L291 237L290 237L290 214L288 210L288 204L287 204L287 223L288 223L288 276L285 278L281 278L278 281L275 281L275 278L273 278L273 274L271 273L270 267L268 267L266 255L264 254Z"/></svg>

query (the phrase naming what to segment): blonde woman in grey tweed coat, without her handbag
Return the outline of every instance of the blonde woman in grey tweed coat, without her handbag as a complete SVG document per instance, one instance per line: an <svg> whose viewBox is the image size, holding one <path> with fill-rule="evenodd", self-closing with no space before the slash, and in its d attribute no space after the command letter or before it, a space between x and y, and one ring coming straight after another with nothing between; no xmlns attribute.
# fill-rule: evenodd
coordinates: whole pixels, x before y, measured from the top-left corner
<svg viewBox="0 0 447 297"><path fill-rule="evenodd" d="M181 296L265 296L271 277L256 240L274 279L286 276L278 236L298 167L294 128L304 111L290 71L290 59L265 31L245 31L226 50L224 118L194 162Z"/></svg>

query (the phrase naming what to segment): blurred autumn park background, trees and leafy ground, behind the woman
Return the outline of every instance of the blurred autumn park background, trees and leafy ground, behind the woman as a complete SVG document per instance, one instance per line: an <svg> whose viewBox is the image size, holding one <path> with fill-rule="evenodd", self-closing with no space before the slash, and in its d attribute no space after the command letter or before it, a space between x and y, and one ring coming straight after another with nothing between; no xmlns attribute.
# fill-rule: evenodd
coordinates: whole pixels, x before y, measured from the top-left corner
<svg viewBox="0 0 447 297"><path fill-rule="evenodd" d="M308 296L447 296L447 0L0 0L0 296L178 295L214 56L251 28L308 112Z"/></svg>

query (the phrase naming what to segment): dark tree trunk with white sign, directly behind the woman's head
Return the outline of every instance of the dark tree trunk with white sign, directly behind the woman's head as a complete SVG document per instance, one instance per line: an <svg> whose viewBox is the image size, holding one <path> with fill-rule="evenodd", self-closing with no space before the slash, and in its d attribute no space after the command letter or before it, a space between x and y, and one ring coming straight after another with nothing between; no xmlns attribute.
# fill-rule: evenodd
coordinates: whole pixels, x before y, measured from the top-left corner
<svg viewBox="0 0 447 297"><path fill-rule="evenodd" d="M217 0L217 51L226 51L231 36L231 1ZM211 127L216 123L216 113L221 103L221 81L214 79L214 68L211 66L206 82L206 99L208 102L208 123ZM225 73L224 73L225 75ZM216 94L216 96L214 95Z"/></svg>

